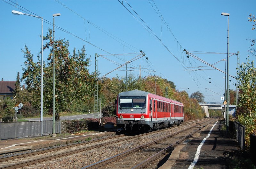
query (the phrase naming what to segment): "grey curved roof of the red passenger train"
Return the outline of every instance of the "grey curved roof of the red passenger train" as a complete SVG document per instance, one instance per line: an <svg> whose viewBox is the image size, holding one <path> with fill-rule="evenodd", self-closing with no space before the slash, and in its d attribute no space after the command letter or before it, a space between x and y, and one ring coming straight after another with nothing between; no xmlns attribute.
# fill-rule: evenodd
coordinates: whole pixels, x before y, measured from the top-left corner
<svg viewBox="0 0 256 169"><path fill-rule="evenodd" d="M162 97L159 95L155 95L155 94L152 94L149 92L141 91L141 90L131 90L131 91L126 91L126 92L121 92L118 94L118 96L145 96L145 97L147 97L148 95L155 96L156 98L159 98L159 99L167 99L169 102L183 105L183 103L181 103L181 102L178 102L178 101L166 98L166 97Z"/></svg>

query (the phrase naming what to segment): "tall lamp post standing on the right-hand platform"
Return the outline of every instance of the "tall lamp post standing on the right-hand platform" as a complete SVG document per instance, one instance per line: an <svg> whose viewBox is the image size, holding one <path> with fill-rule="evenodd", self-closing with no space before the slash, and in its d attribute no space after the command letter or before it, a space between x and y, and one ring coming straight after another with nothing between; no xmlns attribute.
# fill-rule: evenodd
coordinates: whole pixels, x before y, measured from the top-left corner
<svg viewBox="0 0 256 169"><path fill-rule="evenodd" d="M229 36L229 13L224 13L222 12L221 15L224 15L224 16L228 16L228 36ZM229 47L229 39L228 39L228 47ZM229 92L228 92L228 87L229 87L229 80L228 80L228 76L229 76L229 73L228 73L228 66L229 66L229 62L228 62L228 53L227 53L227 89L226 89L226 101L227 101L227 109L226 109L226 132L228 133L228 105L229 105Z"/></svg>

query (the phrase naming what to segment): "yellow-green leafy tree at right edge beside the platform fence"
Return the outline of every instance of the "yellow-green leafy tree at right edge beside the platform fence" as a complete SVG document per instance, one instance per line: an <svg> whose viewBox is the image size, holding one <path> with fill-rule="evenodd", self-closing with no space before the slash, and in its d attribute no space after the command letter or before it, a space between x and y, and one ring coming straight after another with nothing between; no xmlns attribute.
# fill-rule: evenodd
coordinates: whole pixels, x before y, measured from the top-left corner
<svg viewBox="0 0 256 169"><path fill-rule="evenodd" d="M256 19L250 14L249 21L253 22L252 30L255 30ZM255 55L255 39L250 39L252 48L249 52ZM250 147L250 134L256 131L256 68L254 61L248 56L246 62L242 63L237 69L237 79L241 82L239 85L239 99L237 104L236 117L237 121L243 124L245 130L245 146L248 150Z"/></svg>

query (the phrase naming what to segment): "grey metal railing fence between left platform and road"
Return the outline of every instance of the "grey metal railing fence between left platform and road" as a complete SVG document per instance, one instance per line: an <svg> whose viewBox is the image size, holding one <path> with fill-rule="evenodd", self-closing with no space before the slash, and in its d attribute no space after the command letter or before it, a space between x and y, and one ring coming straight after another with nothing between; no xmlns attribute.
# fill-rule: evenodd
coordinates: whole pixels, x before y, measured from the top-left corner
<svg viewBox="0 0 256 169"><path fill-rule="evenodd" d="M60 120L55 120L55 133L60 133ZM0 122L0 140L52 134L52 121Z"/></svg>

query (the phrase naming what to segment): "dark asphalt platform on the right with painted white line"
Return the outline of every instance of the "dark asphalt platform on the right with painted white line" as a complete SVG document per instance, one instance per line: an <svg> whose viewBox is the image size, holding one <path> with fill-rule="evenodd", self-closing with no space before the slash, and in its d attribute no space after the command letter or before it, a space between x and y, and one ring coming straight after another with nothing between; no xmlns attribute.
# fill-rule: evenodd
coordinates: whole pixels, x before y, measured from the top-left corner
<svg viewBox="0 0 256 169"><path fill-rule="evenodd" d="M226 137L225 133L221 132L222 126L223 124L219 121L215 125L212 123L206 126L177 146L164 165L159 168L229 168L227 157L224 154L237 151L238 144L235 139Z"/></svg>

